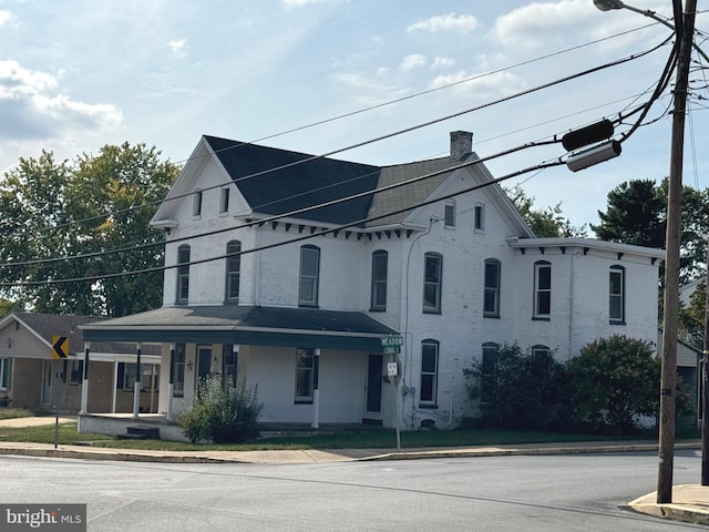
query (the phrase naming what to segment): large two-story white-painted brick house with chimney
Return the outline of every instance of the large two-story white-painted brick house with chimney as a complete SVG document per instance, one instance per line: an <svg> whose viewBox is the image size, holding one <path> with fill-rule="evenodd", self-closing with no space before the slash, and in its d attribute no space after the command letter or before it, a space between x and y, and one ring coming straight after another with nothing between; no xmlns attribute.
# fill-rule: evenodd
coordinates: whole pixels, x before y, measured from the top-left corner
<svg viewBox="0 0 709 532"><path fill-rule="evenodd" d="M383 167L204 136L151 222L162 308L84 338L158 345L168 419L220 374L258 386L263 422L403 428L475 415L463 368L503 342L563 360L613 334L655 342L664 252L535 238L476 161L466 132Z"/></svg>

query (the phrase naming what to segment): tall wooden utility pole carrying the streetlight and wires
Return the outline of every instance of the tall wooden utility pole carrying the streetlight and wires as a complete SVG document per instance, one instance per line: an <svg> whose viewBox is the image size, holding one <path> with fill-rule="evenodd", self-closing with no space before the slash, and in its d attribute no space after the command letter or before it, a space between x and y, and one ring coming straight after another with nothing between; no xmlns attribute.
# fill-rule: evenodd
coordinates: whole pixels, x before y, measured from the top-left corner
<svg viewBox="0 0 709 532"><path fill-rule="evenodd" d="M680 2L681 0L674 0ZM682 155L685 149L685 111L689 85L689 63L697 0L687 0L681 21L675 21L679 52L675 81L675 111L667 197L667 237L665 259L665 309L662 314L662 370L660 376L659 469L657 503L672 502L675 461L675 390L677 385L677 318L679 315L679 248L681 235Z"/></svg>

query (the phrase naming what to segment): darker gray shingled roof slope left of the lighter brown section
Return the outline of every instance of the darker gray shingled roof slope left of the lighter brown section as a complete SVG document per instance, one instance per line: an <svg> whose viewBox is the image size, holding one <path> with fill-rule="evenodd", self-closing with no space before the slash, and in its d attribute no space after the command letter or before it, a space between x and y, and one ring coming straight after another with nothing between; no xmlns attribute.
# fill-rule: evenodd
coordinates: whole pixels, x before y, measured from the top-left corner
<svg viewBox="0 0 709 532"><path fill-rule="evenodd" d="M224 168L256 213L268 215L331 202L377 188L380 168L327 157L315 157L257 144L205 135ZM308 161L312 158L311 161ZM300 164L300 161L307 161ZM274 170L286 166L282 170ZM264 173L255 177L243 178ZM367 218L371 195L299 215L304 219L351 224Z"/></svg>

